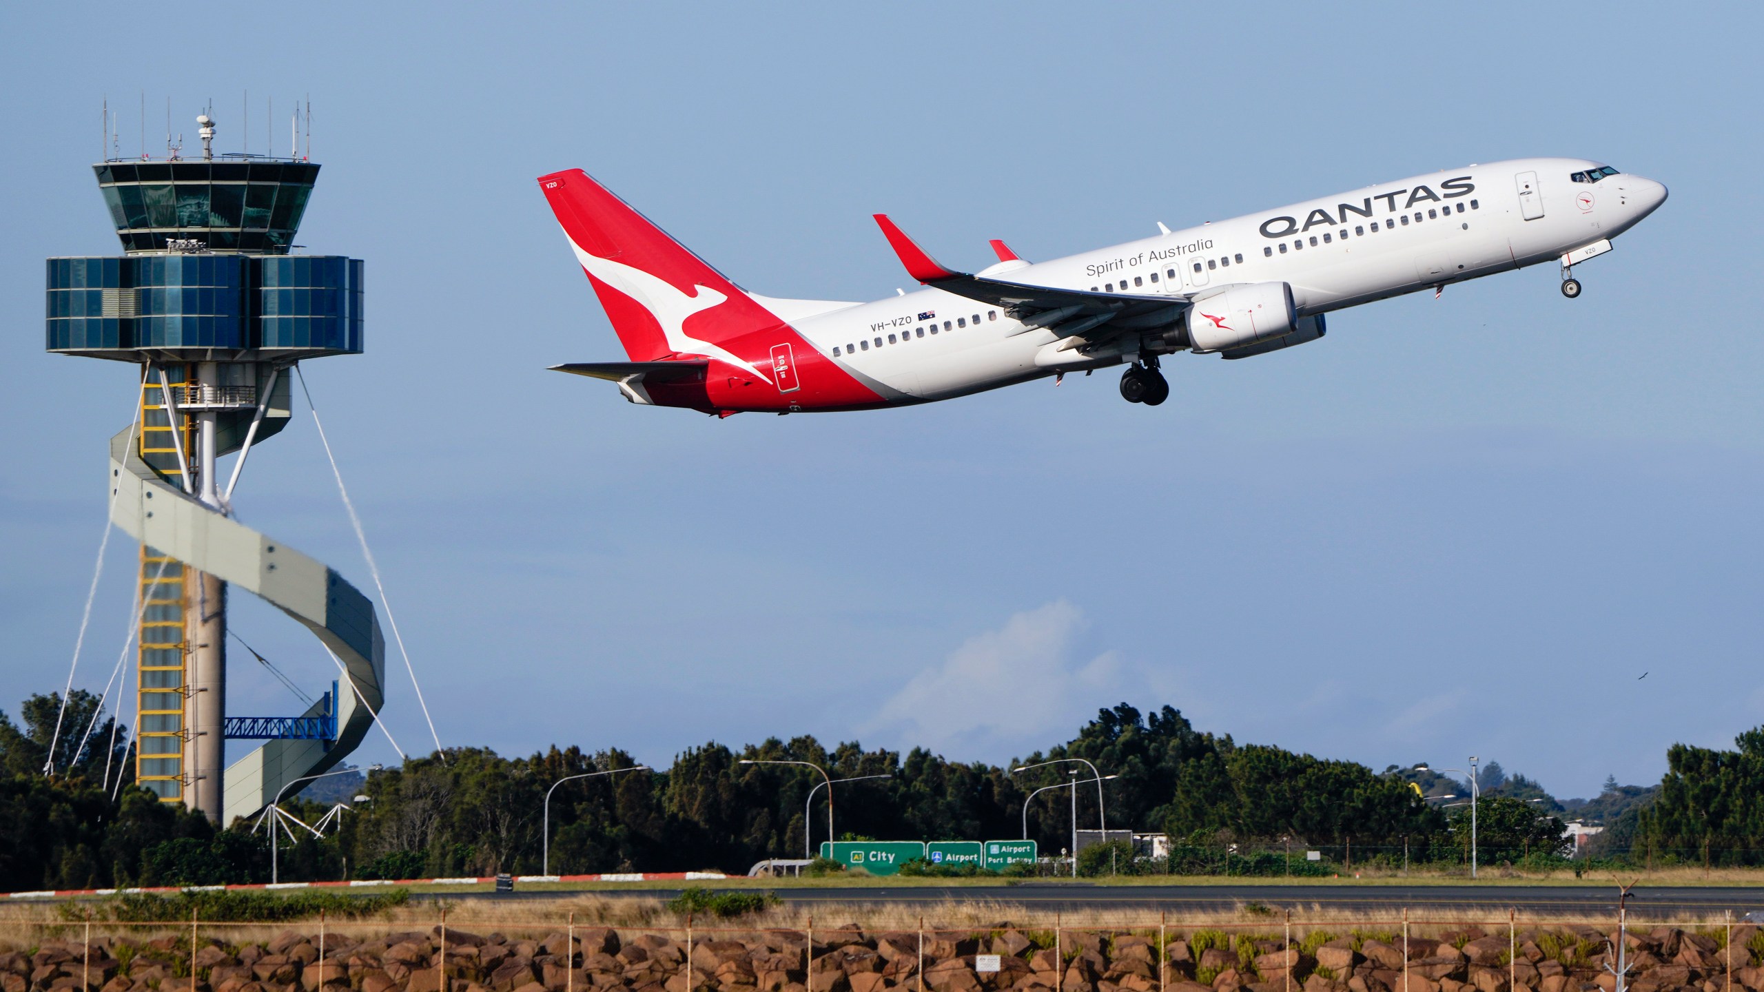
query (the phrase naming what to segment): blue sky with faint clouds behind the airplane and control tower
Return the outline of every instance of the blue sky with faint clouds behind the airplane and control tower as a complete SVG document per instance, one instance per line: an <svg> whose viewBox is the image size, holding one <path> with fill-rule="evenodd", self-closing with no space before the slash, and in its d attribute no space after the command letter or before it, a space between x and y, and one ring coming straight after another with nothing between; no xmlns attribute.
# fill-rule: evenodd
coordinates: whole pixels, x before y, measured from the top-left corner
<svg viewBox="0 0 1764 992"><path fill-rule="evenodd" d="M300 242L367 259L307 365L450 745L667 763L811 733L1002 761L1099 706L1376 768L1596 793L1764 722L1757 5L7 5L0 706L67 676L131 371L42 351L42 263L116 254L88 162L325 164ZM155 138L157 134L157 138ZM580 166L753 291L866 300L1372 182L1586 155L1671 201L1584 267L1332 314L1327 341L914 410L713 420L547 372L617 342L533 178ZM305 411L243 519L363 588ZM78 683L127 630L111 544ZM310 687L279 612L235 630ZM296 703L233 653L235 713ZM429 747L393 653L386 718ZM1642 673L1646 680L1639 680ZM370 738L362 761L392 755Z"/></svg>

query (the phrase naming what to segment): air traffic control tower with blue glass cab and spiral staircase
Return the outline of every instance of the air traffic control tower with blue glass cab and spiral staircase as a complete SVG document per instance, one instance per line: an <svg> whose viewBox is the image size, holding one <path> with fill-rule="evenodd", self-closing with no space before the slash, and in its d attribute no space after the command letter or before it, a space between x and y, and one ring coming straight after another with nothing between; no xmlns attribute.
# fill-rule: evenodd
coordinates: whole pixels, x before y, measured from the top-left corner
<svg viewBox="0 0 1764 992"><path fill-rule="evenodd" d="M289 254L316 162L215 155L213 120L198 125L199 159L168 143L93 166L125 254L48 259L48 349L139 371L139 418L109 445L111 522L141 542L136 782L224 826L355 750L385 644L342 575L233 519L247 455L289 420L295 365L362 351L362 261ZM303 713L228 717L229 586L335 662ZM226 740L263 743L226 766Z"/></svg>

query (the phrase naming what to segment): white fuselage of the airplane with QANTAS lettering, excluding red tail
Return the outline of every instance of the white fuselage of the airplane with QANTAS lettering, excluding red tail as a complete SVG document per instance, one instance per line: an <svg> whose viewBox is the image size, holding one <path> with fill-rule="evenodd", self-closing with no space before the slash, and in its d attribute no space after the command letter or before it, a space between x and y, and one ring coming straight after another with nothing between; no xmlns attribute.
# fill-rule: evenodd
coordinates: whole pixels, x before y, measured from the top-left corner
<svg viewBox="0 0 1764 992"><path fill-rule="evenodd" d="M1300 316L1321 314L1559 259L1626 231L1665 199L1663 185L1626 173L1570 178L1600 169L1586 159L1466 166L1067 258L1000 263L981 275L1171 302L1288 282ZM826 305L836 309L780 316L894 402L1192 349L1162 330L1125 335L1106 351L1062 349L1055 332L942 289Z"/></svg>

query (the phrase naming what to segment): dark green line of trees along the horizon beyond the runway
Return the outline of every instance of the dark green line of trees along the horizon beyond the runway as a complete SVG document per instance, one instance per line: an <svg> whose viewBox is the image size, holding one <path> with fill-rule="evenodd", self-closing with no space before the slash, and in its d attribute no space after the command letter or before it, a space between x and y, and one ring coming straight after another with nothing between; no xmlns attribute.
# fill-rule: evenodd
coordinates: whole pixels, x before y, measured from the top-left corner
<svg viewBox="0 0 1764 992"><path fill-rule="evenodd" d="M111 740L113 724L99 718L97 701L76 692L72 710L83 713L83 725L106 733L83 734L88 745L58 755L49 775L44 763L60 697L26 701L23 727L0 713L0 888L266 881L265 833L252 833L243 821L215 830L198 814L153 801L127 780L127 743L101 743ZM69 724L65 717L60 722ZM115 738L125 741L125 727ZM1674 748L1667 784L1663 784L1639 821L1649 837L1662 838L1662 847L1665 838L1702 837L1686 833L1702 830L1702 814L1679 810L1713 808L1706 780L1716 775L1716 793L1729 796L1720 808L1752 810L1723 819L1718 837L1755 840L1764 828L1764 778L1752 747L1750 766ZM1394 768L1378 773L1351 761L1238 745L1230 734L1194 729L1175 708L1141 713L1125 703L1097 711L1073 740L1005 766L949 761L924 748L827 748L810 736L739 750L706 743L676 755L665 770L637 770L637 761L616 748L552 747L527 757L446 748L351 782L351 808L340 826L323 838L296 828L296 840L284 837L279 860L282 879L540 874L545 867L552 874L744 872L764 858L801 858L804 842L813 849L827 838L827 787L813 808L806 807L820 773L781 763L817 764L834 778L841 838L1000 840L1020 837L1027 824L1043 853L1057 853L1071 844L1073 803L1080 828L1097 824L1094 784L1035 794L1069 784L1074 768L1081 770L1078 778L1090 777L1069 759L1115 777L1104 784L1110 828L1166 833L1184 851L1228 853L1224 870L1231 870L1231 851L1256 845L1327 849L1332 861L1346 856L1349 863L1394 863L1399 853L1415 863L1468 860L1469 810L1424 801ZM1057 764L1013 773L1048 761ZM607 775L559 784L587 773ZM1746 791L1750 807L1732 798ZM316 823L335 801L321 793L309 787L284 808ZM1482 863L1563 856L1561 821L1540 807L1522 796L1485 796L1478 810ZM1168 870L1205 870L1196 867L1205 863L1198 858L1178 868L1171 860Z"/></svg>

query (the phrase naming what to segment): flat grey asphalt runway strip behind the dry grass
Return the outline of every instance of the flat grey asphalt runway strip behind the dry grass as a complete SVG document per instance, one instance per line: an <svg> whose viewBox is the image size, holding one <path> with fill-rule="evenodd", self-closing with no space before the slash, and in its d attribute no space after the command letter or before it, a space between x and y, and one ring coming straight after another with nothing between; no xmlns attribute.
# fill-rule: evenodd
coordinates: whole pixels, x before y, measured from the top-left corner
<svg viewBox="0 0 1764 992"><path fill-rule="evenodd" d="M713 888L714 886L707 886ZM898 904L930 906L942 902L1000 902L1039 911L1145 907L1178 913L1182 909L1235 909L1258 902L1275 911L1362 909L1362 911L1501 911L1603 916L1616 911L1616 886L1282 886L1282 884L1207 884L1207 886L1108 886L1085 883L1016 886L903 886L903 888L790 888L778 886L778 898L796 906L813 904ZM513 897L490 891L448 893L445 898L570 898L572 891L515 891ZM672 898L677 890L596 890L594 895ZM1637 886L1630 911L1646 916L1669 913L1722 913L1734 916L1764 911L1764 888L1741 886Z"/></svg>

